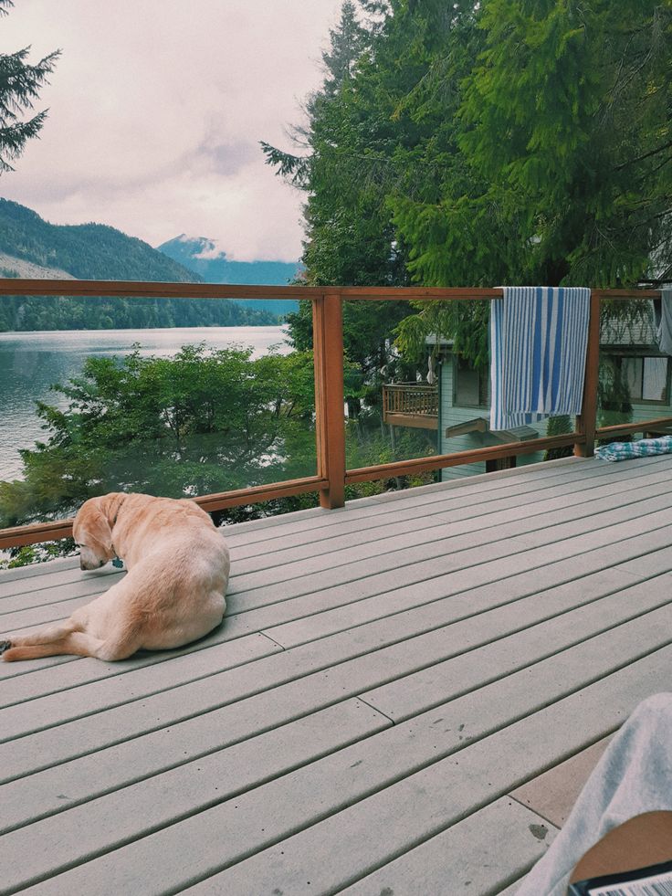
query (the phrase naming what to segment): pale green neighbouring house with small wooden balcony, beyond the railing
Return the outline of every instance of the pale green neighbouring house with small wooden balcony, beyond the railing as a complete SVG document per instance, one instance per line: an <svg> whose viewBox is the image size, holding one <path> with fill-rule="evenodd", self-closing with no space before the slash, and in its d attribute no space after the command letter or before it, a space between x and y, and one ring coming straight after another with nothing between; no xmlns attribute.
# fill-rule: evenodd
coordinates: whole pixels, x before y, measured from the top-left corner
<svg viewBox="0 0 672 896"><path fill-rule="evenodd" d="M436 339L427 343L436 346ZM474 448L523 442L545 436L548 420L531 427L493 432L489 428L489 371L474 370L439 340L436 385L398 384L384 389L384 419L393 426L436 429L436 450L453 454ZM612 324L601 346L601 379L618 385L617 400L599 411L598 426L672 416L670 359L658 351L651 323ZM612 392L613 390L608 390ZM537 463L543 452L518 455L506 461L480 461L442 470L442 479L484 473L506 466Z"/></svg>

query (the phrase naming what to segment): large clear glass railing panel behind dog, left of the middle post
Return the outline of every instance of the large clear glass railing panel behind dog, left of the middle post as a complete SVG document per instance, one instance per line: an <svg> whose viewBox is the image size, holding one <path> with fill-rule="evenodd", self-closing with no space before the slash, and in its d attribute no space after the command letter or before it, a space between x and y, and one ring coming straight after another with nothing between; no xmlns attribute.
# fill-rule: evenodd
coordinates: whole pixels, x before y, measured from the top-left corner
<svg viewBox="0 0 672 896"><path fill-rule="evenodd" d="M50 320L54 299L24 301ZM79 300L96 301L110 322L95 330L21 330L5 309L0 528L109 491L196 497L316 474L312 353L289 344L276 302L217 326L227 300ZM207 326L162 325L187 303Z"/></svg>

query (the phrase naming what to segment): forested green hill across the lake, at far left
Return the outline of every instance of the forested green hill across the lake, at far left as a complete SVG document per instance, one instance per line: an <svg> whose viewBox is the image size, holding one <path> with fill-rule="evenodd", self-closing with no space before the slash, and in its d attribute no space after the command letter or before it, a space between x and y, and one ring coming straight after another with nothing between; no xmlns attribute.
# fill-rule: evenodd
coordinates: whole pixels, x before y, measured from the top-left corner
<svg viewBox="0 0 672 896"><path fill-rule="evenodd" d="M54 225L0 199L0 277L201 282L148 243L102 224ZM283 309L255 302L0 297L0 332L273 324ZM278 303L279 304L279 303Z"/></svg>

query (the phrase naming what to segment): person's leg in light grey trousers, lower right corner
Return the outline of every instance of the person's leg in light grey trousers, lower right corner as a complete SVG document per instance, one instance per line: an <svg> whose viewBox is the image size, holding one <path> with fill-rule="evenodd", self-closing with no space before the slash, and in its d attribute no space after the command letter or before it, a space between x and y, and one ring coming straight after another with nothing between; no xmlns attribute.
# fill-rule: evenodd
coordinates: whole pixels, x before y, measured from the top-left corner
<svg viewBox="0 0 672 896"><path fill-rule="evenodd" d="M572 869L607 831L657 809L672 809L672 693L635 708L516 896L565 896Z"/></svg>

